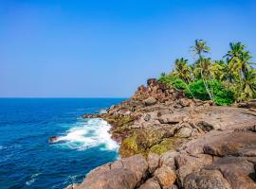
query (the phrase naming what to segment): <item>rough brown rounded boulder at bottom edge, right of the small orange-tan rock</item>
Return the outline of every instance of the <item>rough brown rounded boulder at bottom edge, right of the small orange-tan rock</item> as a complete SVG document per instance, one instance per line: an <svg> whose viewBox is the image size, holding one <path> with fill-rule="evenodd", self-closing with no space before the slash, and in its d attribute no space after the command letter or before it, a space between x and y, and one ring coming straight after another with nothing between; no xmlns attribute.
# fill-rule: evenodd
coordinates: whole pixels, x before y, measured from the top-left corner
<svg viewBox="0 0 256 189"><path fill-rule="evenodd" d="M232 189L218 170L201 170L188 175L185 189Z"/></svg>

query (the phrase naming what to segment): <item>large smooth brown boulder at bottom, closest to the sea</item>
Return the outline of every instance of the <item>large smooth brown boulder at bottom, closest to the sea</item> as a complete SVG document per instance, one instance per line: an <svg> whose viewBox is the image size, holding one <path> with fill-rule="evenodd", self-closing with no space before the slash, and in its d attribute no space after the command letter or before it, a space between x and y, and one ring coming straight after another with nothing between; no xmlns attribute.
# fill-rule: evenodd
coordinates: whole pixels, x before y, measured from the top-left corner
<svg viewBox="0 0 256 189"><path fill-rule="evenodd" d="M139 164L139 166L138 166ZM134 189L147 177L148 163L142 155L104 164L91 171L85 180L75 188Z"/></svg>

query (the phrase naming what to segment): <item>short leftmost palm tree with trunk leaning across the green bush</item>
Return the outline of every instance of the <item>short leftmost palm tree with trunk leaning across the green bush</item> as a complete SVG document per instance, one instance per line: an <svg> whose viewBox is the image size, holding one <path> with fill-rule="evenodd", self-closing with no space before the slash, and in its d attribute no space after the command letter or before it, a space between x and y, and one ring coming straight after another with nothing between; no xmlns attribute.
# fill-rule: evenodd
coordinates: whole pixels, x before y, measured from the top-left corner
<svg viewBox="0 0 256 189"><path fill-rule="evenodd" d="M185 60L184 58L181 59L176 59L174 61L174 76L181 78L182 80L185 81L185 85L188 89L188 91L190 92L190 94L192 94L191 89L188 85L188 83L191 81L192 79L192 75L191 75L191 67L188 64L188 60ZM192 97L194 98L193 94Z"/></svg>

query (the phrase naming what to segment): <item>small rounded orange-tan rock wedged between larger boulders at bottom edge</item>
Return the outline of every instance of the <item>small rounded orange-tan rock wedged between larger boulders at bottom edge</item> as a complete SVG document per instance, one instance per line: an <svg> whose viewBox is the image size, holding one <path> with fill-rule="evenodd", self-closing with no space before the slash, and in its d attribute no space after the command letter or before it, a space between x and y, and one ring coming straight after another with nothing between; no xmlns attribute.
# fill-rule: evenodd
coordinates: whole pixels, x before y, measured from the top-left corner
<svg viewBox="0 0 256 189"><path fill-rule="evenodd" d="M155 180L160 183L161 187L171 186L176 180L176 174L170 166L161 166L160 168L157 168L154 177Z"/></svg>

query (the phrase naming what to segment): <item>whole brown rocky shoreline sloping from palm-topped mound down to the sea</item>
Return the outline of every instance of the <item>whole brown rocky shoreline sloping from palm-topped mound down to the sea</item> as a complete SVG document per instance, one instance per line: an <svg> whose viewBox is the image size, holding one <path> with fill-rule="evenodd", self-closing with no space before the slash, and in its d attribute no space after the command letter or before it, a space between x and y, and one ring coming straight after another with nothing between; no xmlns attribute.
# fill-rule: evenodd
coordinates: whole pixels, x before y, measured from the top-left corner
<svg viewBox="0 0 256 189"><path fill-rule="evenodd" d="M87 174L86 189L256 188L256 101L192 100L152 78L101 117L122 159Z"/></svg>

